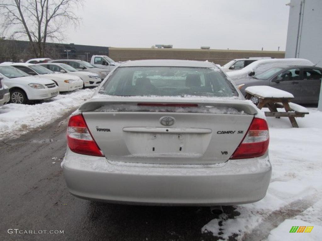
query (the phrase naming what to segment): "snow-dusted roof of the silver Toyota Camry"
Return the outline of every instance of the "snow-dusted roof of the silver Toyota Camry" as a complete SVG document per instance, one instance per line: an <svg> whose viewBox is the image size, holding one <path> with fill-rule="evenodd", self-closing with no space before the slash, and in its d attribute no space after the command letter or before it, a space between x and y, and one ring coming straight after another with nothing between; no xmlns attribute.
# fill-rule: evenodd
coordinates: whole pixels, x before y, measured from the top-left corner
<svg viewBox="0 0 322 241"><path fill-rule="evenodd" d="M215 64L207 61L195 60L178 60L178 59L146 59L133 60L122 63L119 67L201 67L201 68L218 68Z"/></svg>

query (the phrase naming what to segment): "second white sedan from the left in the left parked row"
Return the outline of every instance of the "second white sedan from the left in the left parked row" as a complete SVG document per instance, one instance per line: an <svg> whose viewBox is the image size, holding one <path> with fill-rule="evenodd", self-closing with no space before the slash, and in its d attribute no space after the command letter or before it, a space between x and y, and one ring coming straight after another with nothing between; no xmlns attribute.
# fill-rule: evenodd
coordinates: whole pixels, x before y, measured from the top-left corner
<svg viewBox="0 0 322 241"><path fill-rule="evenodd" d="M58 85L60 92L74 91L83 87L83 81L78 76L54 73L43 66L35 64L13 63L11 66L24 71L28 75L40 76L42 78L47 78L54 81Z"/></svg>

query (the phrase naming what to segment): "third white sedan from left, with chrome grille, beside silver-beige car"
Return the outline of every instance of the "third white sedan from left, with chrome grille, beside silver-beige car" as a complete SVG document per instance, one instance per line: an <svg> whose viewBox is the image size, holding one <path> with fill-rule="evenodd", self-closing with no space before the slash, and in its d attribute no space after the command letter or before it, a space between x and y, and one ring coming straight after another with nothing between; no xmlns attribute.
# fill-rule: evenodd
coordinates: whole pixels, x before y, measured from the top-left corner
<svg viewBox="0 0 322 241"><path fill-rule="evenodd" d="M78 69L75 69L67 64L42 63L39 65L41 65L47 69L50 69L53 72L67 73L69 75L78 76L83 80L84 87L99 86L99 84L102 83L102 80L98 74L93 73L93 72L87 72L87 71L79 71Z"/></svg>

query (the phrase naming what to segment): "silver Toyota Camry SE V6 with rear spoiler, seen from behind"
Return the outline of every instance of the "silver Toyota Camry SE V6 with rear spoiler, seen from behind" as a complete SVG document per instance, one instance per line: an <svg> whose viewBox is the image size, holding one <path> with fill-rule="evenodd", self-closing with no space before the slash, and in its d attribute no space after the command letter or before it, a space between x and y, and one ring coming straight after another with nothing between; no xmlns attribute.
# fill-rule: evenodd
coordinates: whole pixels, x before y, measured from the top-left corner
<svg viewBox="0 0 322 241"><path fill-rule="evenodd" d="M122 63L71 115L67 143L67 187L84 199L242 204L271 178L264 114L209 62Z"/></svg>

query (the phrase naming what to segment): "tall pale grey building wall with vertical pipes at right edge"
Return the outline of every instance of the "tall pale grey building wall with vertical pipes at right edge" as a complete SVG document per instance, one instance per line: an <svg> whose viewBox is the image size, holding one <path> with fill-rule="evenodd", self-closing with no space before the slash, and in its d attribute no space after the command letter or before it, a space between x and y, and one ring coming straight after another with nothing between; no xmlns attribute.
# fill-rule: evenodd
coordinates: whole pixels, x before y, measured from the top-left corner
<svg viewBox="0 0 322 241"><path fill-rule="evenodd" d="M322 67L322 0L291 0L289 8L285 58L321 61Z"/></svg>

